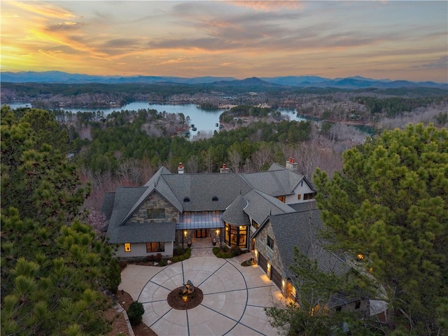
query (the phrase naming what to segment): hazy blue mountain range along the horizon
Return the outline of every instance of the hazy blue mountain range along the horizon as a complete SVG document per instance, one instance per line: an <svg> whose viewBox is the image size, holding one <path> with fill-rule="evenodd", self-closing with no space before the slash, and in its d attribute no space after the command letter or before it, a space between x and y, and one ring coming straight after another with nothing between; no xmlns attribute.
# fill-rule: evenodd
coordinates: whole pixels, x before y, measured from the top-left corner
<svg viewBox="0 0 448 336"><path fill-rule="evenodd" d="M346 78L323 78L319 76L252 77L238 80L232 77L169 77L169 76L92 76L62 71L3 71L0 81L4 83L64 83L64 84L213 84L217 86L259 86L259 87L337 87L342 89L397 88L397 87L436 87L448 89L448 83L412 82L409 80L372 79L362 76Z"/></svg>

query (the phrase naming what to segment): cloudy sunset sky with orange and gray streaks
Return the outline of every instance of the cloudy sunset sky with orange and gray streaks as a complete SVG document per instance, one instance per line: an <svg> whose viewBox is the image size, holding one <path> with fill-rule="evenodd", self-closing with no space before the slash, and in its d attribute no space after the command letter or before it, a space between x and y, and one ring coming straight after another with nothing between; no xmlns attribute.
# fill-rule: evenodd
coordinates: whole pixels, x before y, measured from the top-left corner
<svg viewBox="0 0 448 336"><path fill-rule="evenodd" d="M448 82L448 1L1 1L1 71Z"/></svg>

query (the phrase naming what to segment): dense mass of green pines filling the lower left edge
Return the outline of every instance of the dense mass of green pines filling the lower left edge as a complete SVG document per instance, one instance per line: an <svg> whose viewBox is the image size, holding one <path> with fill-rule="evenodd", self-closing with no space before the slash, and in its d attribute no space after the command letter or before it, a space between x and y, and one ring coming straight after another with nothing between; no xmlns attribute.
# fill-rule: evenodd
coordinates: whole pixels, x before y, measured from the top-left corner
<svg viewBox="0 0 448 336"><path fill-rule="evenodd" d="M45 125L59 130L50 113L16 120L1 109L1 332L101 335L100 290L116 290L120 269L111 246L76 219L88 188Z"/></svg>

